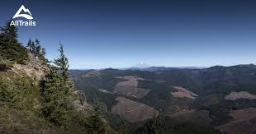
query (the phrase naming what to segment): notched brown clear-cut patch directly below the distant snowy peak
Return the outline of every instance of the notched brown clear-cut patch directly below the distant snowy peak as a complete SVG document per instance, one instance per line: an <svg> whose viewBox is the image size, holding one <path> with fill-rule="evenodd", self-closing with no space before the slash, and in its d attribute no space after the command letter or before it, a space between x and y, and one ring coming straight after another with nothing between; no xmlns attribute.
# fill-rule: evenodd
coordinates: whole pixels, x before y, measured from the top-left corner
<svg viewBox="0 0 256 134"><path fill-rule="evenodd" d="M138 83L140 80L144 80L143 78L137 76L118 76L116 78L127 80L116 84L114 92L119 95L142 98L149 93L147 89L138 88Z"/></svg>

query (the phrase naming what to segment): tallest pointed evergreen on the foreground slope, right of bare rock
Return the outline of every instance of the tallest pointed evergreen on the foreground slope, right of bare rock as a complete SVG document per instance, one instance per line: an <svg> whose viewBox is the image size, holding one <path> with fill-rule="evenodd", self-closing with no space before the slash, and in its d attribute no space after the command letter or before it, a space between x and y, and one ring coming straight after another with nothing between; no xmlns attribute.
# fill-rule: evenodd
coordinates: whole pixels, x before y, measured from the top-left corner
<svg viewBox="0 0 256 134"><path fill-rule="evenodd" d="M36 45L40 44L36 40ZM61 51L60 51L61 50ZM63 47L59 49L61 56L64 58L58 58L55 60L55 64L59 65L57 67L49 65L50 72L45 76L45 80L41 81L40 87L43 95L44 103L42 104L42 117L48 119L50 122L54 122L57 126L67 126L70 123L72 115L70 111L70 100L72 94L70 90L73 90L67 85L67 80L69 76L64 77L63 70L61 70L61 63L66 63L68 65L68 59L64 56ZM61 61L64 59L64 61ZM68 72L68 66L65 65L65 71Z"/></svg>

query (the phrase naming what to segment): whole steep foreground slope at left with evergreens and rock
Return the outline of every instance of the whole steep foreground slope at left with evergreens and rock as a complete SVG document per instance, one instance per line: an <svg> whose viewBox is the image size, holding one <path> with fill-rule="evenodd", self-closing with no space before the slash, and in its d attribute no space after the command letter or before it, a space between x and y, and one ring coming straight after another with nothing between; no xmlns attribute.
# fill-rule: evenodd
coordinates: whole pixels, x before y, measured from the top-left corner
<svg viewBox="0 0 256 134"><path fill-rule="evenodd" d="M17 27L0 30L0 133L106 133L99 103L73 87L64 46L52 63L40 40L18 42Z"/></svg>

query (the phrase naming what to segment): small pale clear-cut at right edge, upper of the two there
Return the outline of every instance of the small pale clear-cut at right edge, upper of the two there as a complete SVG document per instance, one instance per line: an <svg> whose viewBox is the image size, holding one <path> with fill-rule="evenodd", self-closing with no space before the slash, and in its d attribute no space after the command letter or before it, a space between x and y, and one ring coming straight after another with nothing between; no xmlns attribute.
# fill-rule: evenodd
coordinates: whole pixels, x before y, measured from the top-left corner
<svg viewBox="0 0 256 134"><path fill-rule="evenodd" d="M247 91L231 92L229 95L225 96L225 99L256 99L256 95L252 95Z"/></svg>

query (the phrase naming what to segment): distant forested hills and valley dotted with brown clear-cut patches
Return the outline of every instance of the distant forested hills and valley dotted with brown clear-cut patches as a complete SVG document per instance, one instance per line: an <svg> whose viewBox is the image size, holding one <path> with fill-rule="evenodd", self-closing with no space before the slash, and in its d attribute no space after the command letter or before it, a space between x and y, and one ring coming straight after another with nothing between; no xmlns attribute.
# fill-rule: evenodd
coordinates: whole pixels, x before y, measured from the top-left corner
<svg viewBox="0 0 256 134"><path fill-rule="evenodd" d="M165 127L160 133L173 130L186 133L187 129L199 131L192 133L215 132L213 128L228 133L256 131L253 64L202 69L166 67L159 71L108 68L74 70L71 74L74 84L86 93L89 101L98 98L107 105L108 116L114 114L128 124L142 125L137 128L126 125L127 129L135 129L131 132L150 133L149 123L153 122L149 118L158 117L150 114L154 109L164 116L160 122ZM141 122L135 122L133 115L140 115ZM243 115L247 118L243 119ZM232 127L237 129L234 131Z"/></svg>

